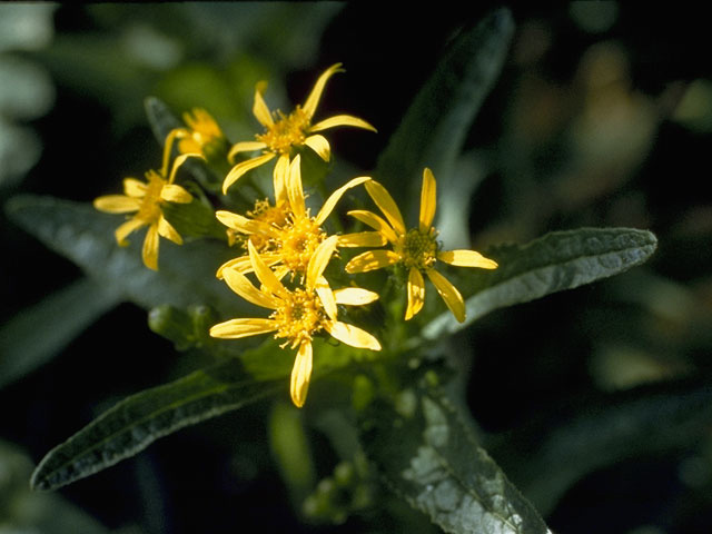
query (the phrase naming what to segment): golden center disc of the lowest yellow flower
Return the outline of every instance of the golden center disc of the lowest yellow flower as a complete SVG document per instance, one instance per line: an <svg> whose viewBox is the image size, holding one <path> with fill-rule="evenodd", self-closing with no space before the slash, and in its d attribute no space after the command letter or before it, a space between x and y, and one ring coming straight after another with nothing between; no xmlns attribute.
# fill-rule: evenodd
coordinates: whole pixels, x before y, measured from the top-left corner
<svg viewBox="0 0 712 534"><path fill-rule="evenodd" d="M326 314L316 293L295 289L289 298L281 300L270 318L279 325L275 338L285 338L283 347L290 344L295 348L324 328Z"/></svg>

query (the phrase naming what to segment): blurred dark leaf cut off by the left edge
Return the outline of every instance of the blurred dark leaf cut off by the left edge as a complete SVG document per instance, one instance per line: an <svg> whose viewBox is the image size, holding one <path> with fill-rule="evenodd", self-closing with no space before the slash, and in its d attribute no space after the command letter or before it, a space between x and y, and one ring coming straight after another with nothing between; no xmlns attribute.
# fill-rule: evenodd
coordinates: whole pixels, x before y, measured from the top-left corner
<svg viewBox="0 0 712 534"><path fill-rule="evenodd" d="M0 328L0 388L47 364L120 296L83 278L23 309ZM51 325L51 327L47 327ZM42 335L38 336L38 328Z"/></svg>

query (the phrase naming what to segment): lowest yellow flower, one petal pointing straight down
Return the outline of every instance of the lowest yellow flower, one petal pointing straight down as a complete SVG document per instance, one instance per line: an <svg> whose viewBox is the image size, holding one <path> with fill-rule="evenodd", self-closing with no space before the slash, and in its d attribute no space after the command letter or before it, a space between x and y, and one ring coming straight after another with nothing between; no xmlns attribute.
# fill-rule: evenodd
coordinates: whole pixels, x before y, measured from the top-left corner
<svg viewBox="0 0 712 534"><path fill-rule="evenodd" d="M355 287L333 291L324 278L324 269L336 250L336 236L323 241L314 251L307 268L306 284L301 288L287 289L273 270L261 260L251 241L248 241L249 259L261 286L257 288L240 273L228 269L225 280L246 300L273 309L269 318L238 318L210 328L212 337L238 339L258 334L275 333L285 339L283 348L297 348L291 369L289 390L297 407L304 406L312 377L312 339L326 330L334 338L352 347L380 350L378 339L360 328L337 320L337 304L358 306L378 298L373 291Z"/></svg>

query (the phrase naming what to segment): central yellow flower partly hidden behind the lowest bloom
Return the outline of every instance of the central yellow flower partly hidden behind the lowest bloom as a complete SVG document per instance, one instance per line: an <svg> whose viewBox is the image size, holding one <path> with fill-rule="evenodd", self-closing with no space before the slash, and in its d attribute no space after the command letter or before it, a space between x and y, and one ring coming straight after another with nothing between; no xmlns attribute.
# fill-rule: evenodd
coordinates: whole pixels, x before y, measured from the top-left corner
<svg viewBox="0 0 712 534"><path fill-rule="evenodd" d="M364 176L349 180L326 199L316 217L312 217L301 186L300 156L297 155L291 164L284 160L278 165L288 165L289 170L275 175L275 206L261 206L253 211L256 216L251 218L230 211L217 211L215 215L229 229L247 236L263 261L304 277L316 249L327 238L322 228L326 218L348 189L368 182L370 178ZM284 185L279 180L281 176L287 178ZM339 246L377 247L384 244L383 237L376 231L338 239ZM226 269L237 269L244 274L251 270L251 263L247 256L233 259L218 269L218 278L224 276Z"/></svg>

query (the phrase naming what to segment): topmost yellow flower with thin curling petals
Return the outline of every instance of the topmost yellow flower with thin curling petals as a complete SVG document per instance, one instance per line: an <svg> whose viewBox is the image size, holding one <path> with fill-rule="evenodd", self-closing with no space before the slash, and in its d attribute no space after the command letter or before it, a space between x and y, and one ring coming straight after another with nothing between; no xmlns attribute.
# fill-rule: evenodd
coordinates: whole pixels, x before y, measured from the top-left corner
<svg viewBox="0 0 712 534"><path fill-rule="evenodd" d="M233 160L233 157L239 152L263 150L263 154L246 161L241 161L233 167L233 170L230 170L230 172L225 177L225 181L222 182L224 194L226 194L227 189L245 172L266 164L277 156L279 156L279 160L275 167L275 175L278 171L285 171L288 167L293 149L297 147L309 147L323 160L328 161L330 158L329 142L324 136L318 134L319 131L334 128L336 126L354 126L356 128L376 131L376 129L365 120L350 115L336 115L328 119L324 119L316 125L312 123L312 119L314 118L314 113L319 103L319 99L322 98L322 92L324 91L326 82L336 72L343 71L342 63L333 65L326 69L326 71L319 76L319 79L316 81L312 92L304 102L304 106L297 105L294 111L289 115L284 115L281 111L274 113L270 112L263 99L263 92L266 88L266 83L257 83L253 113L255 113L259 123L265 128L265 132L258 134L256 136L256 141L243 141L235 144L230 149L228 159Z"/></svg>

